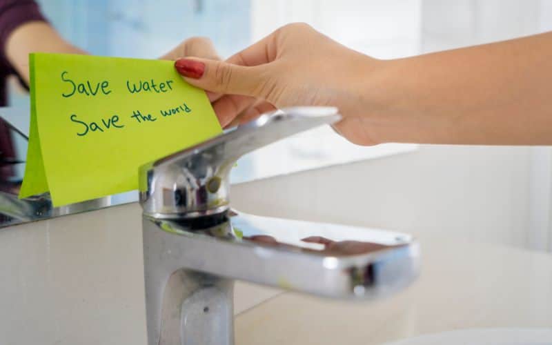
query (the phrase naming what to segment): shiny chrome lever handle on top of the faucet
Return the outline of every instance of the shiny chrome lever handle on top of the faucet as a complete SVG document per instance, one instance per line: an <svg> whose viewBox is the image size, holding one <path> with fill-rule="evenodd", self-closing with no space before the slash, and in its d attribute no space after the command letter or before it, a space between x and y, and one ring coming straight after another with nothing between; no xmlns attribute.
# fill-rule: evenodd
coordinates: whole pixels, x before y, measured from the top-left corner
<svg viewBox="0 0 552 345"><path fill-rule="evenodd" d="M248 152L341 119L337 108L277 110L172 155L141 166L140 204L157 219L196 219L226 214L230 169Z"/></svg>

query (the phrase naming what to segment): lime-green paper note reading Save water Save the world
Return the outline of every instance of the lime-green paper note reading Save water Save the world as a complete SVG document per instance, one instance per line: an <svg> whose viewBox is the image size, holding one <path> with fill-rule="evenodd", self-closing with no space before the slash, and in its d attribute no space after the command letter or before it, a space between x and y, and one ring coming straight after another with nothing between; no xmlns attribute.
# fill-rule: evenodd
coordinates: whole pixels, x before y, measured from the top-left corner
<svg viewBox="0 0 552 345"><path fill-rule="evenodd" d="M32 54L20 197L55 206L138 188L138 168L221 133L203 90L172 61Z"/></svg>

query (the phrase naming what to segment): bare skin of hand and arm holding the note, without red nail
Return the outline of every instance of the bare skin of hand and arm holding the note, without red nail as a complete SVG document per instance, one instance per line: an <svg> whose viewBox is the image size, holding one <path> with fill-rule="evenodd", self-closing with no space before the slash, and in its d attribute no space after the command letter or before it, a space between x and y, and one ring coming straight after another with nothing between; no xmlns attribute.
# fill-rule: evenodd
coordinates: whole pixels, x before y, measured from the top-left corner
<svg viewBox="0 0 552 345"><path fill-rule="evenodd" d="M552 32L379 60L295 23L227 61L185 60L204 64L184 77L215 92L223 126L273 107L337 106L334 128L355 144L552 144Z"/></svg>

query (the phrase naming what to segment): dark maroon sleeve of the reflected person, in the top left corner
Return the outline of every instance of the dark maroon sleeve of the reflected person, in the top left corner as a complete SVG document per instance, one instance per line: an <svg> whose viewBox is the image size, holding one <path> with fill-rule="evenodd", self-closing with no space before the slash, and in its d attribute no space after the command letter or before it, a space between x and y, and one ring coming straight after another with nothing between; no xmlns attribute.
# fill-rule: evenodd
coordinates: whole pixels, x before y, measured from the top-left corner
<svg viewBox="0 0 552 345"><path fill-rule="evenodd" d="M10 33L28 21L44 21L33 0L0 0L0 106L6 106L6 78L15 74L6 59L6 40Z"/></svg>

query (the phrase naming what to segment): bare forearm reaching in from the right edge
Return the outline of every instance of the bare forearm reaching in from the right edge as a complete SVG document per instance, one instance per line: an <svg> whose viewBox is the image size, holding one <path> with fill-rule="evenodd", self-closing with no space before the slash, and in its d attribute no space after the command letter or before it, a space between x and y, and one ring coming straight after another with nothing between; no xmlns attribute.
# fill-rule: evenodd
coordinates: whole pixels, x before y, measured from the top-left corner
<svg viewBox="0 0 552 345"><path fill-rule="evenodd" d="M552 144L552 33L383 65L364 86L378 141Z"/></svg>

